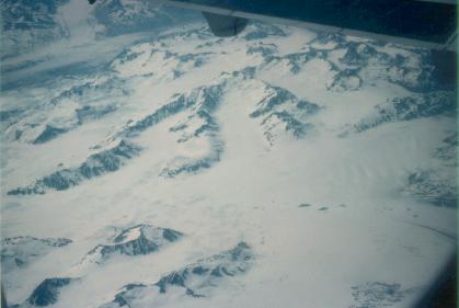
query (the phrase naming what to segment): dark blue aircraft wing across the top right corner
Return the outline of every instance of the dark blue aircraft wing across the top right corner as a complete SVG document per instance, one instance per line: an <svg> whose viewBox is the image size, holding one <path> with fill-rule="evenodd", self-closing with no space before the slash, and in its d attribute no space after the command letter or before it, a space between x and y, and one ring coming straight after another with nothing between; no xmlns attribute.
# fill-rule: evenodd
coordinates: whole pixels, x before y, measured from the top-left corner
<svg viewBox="0 0 459 308"><path fill-rule="evenodd" d="M456 49L449 0L163 0L219 15L288 24L433 49Z"/></svg>

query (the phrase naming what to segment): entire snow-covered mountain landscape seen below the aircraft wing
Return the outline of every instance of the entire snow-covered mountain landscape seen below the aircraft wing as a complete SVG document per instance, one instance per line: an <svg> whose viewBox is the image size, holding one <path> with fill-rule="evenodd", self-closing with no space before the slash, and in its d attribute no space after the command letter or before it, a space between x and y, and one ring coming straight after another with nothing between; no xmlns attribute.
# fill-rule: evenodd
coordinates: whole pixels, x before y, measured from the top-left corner
<svg viewBox="0 0 459 308"><path fill-rule="evenodd" d="M151 1L2 16L9 303L410 307L455 250L456 93L428 50L218 38Z"/></svg>

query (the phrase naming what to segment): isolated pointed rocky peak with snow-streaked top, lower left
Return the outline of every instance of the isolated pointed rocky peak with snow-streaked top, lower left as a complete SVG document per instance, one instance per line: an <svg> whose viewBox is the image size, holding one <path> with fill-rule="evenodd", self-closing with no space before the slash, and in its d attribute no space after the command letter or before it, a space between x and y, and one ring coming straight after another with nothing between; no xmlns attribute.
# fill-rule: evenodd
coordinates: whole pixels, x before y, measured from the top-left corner
<svg viewBox="0 0 459 308"><path fill-rule="evenodd" d="M112 243L95 247L85 259L100 263L110 259L114 253L125 255L149 254L177 241L182 237L182 232L172 229L137 225L123 230Z"/></svg>

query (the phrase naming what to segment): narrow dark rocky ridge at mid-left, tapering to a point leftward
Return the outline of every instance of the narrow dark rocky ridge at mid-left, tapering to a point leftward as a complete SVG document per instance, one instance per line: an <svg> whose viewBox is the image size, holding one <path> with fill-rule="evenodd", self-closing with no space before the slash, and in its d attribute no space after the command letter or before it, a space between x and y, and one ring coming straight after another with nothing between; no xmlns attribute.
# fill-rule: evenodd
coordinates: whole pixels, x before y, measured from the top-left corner
<svg viewBox="0 0 459 308"><path fill-rule="evenodd" d="M44 194L47 190L64 191L84 180L118 170L127 160L138 156L137 145L122 140L111 149L91 155L80 167L54 172L33 185L8 192L9 195Z"/></svg>

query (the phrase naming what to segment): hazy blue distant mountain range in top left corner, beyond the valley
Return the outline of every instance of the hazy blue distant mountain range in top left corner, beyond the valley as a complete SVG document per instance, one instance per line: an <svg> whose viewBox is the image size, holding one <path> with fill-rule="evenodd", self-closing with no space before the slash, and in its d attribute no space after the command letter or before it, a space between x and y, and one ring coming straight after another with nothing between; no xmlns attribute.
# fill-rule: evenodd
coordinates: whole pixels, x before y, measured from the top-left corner
<svg viewBox="0 0 459 308"><path fill-rule="evenodd" d="M126 33L160 31L199 20L193 11L159 8L149 0L1 0L1 58L49 44L88 44Z"/></svg>

